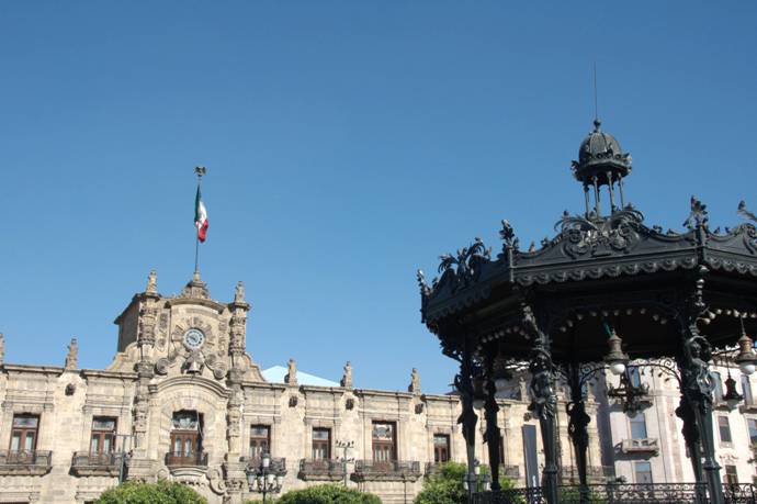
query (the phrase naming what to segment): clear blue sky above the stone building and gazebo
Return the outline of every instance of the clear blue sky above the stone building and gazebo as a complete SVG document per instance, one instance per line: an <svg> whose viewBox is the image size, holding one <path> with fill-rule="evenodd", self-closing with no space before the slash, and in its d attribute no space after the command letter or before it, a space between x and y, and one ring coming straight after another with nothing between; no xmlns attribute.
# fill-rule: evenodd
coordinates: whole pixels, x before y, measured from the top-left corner
<svg viewBox="0 0 757 504"><path fill-rule="evenodd" d="M148 271L244 280L247 345L358 387L443 392L415 280L507 217L551 234L599 113L626 194L680 227L757 209L757 3L0 2L0 332L7 360L106 366Z"/></svg>

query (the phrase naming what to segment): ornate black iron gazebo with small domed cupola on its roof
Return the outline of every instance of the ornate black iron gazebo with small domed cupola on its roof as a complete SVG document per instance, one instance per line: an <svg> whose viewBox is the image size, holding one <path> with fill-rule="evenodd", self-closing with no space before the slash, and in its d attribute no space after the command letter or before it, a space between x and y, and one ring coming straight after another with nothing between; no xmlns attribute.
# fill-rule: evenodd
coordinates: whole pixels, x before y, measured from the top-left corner
<svg viewBox="0 0 757 504"><path fill-rule="evenodd" d="M526 362L530 410L540 421L544 449L540 492L550 504L558 502L555 383L564 380L570 388L568 432L580 501L588 502L585 370L607 369L622 377L630 360L655 366L666 359L680 383L677 414L697 479L692 500L727 502L714 452L709 368L713 354L727 350L744 372L755 370L747 334L757 328L757 228L742 223L711 229L705 205L694 198L685 231L645 225L624 194L631 156L601 131L599 121L572 168L584 189L585 209L579 215L564 212L556 236L544 238L541 247L521 250L513 228L502 221L496 257L476 238L441 257L441 275L430 285L418 271L422 321L443 354L460 362L455 383L468 466L477 422L473 403L483 401L493 469L487 500L507 502L497 497L495 396L510 367ZM743 202L738 213L756 220Z"/></svg>

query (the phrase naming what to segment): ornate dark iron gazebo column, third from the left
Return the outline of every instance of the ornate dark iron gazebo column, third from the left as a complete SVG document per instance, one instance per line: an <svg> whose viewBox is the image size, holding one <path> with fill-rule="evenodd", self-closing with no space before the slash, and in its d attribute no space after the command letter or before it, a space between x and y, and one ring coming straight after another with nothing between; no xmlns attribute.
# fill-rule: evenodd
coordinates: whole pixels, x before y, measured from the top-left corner
<svg viewBox="0 0 757 504"><path fill-rule="evenodd" d="M531 384L529 392L531 404L529 410L539 418L544 447L544 471L542 472L544 496L549 504L557 504L557 445L555 443L555 370L550 351L550 341L536 325L536 320L527 306L523 310L523 325L533 340L531 361Z"/></svg>

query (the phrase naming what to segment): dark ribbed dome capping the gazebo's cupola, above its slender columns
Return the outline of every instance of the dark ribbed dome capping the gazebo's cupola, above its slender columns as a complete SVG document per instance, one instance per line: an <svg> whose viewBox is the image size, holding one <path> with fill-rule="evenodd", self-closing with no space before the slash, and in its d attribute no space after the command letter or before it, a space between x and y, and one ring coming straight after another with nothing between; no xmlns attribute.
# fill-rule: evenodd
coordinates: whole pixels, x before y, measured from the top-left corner
<svg viewBox="0 0 757 504"><path fill-rule="evenodd" d="M623 153L618 139L600 130L601 121L595 119L594 131L588 134L578 149L578 161L573 161L577 180L591 186L610 184L631 171L631 155Z"/></svg>

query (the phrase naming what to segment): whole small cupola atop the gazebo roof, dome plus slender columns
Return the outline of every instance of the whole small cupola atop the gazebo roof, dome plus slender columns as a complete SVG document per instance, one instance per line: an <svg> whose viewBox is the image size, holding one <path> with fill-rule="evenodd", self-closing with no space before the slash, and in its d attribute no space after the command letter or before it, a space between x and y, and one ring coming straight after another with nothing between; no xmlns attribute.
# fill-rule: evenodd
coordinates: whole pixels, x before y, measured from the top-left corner
<svg viewBox="0 0 757 504"><path fill-rule="evenodd" d="M610 197L610 213L625 206L623 178L631 172L631 155L623 153L620 143L609 133L601 131L602 122L594 120L594 131L588 134L578 148L578 160L570 167L573 175L584 184L586 216L601 216L600 188L607 186ZM618 186L620 206L615 203L614 188ZM591 209L590 189L594 190Z"/></svg>

